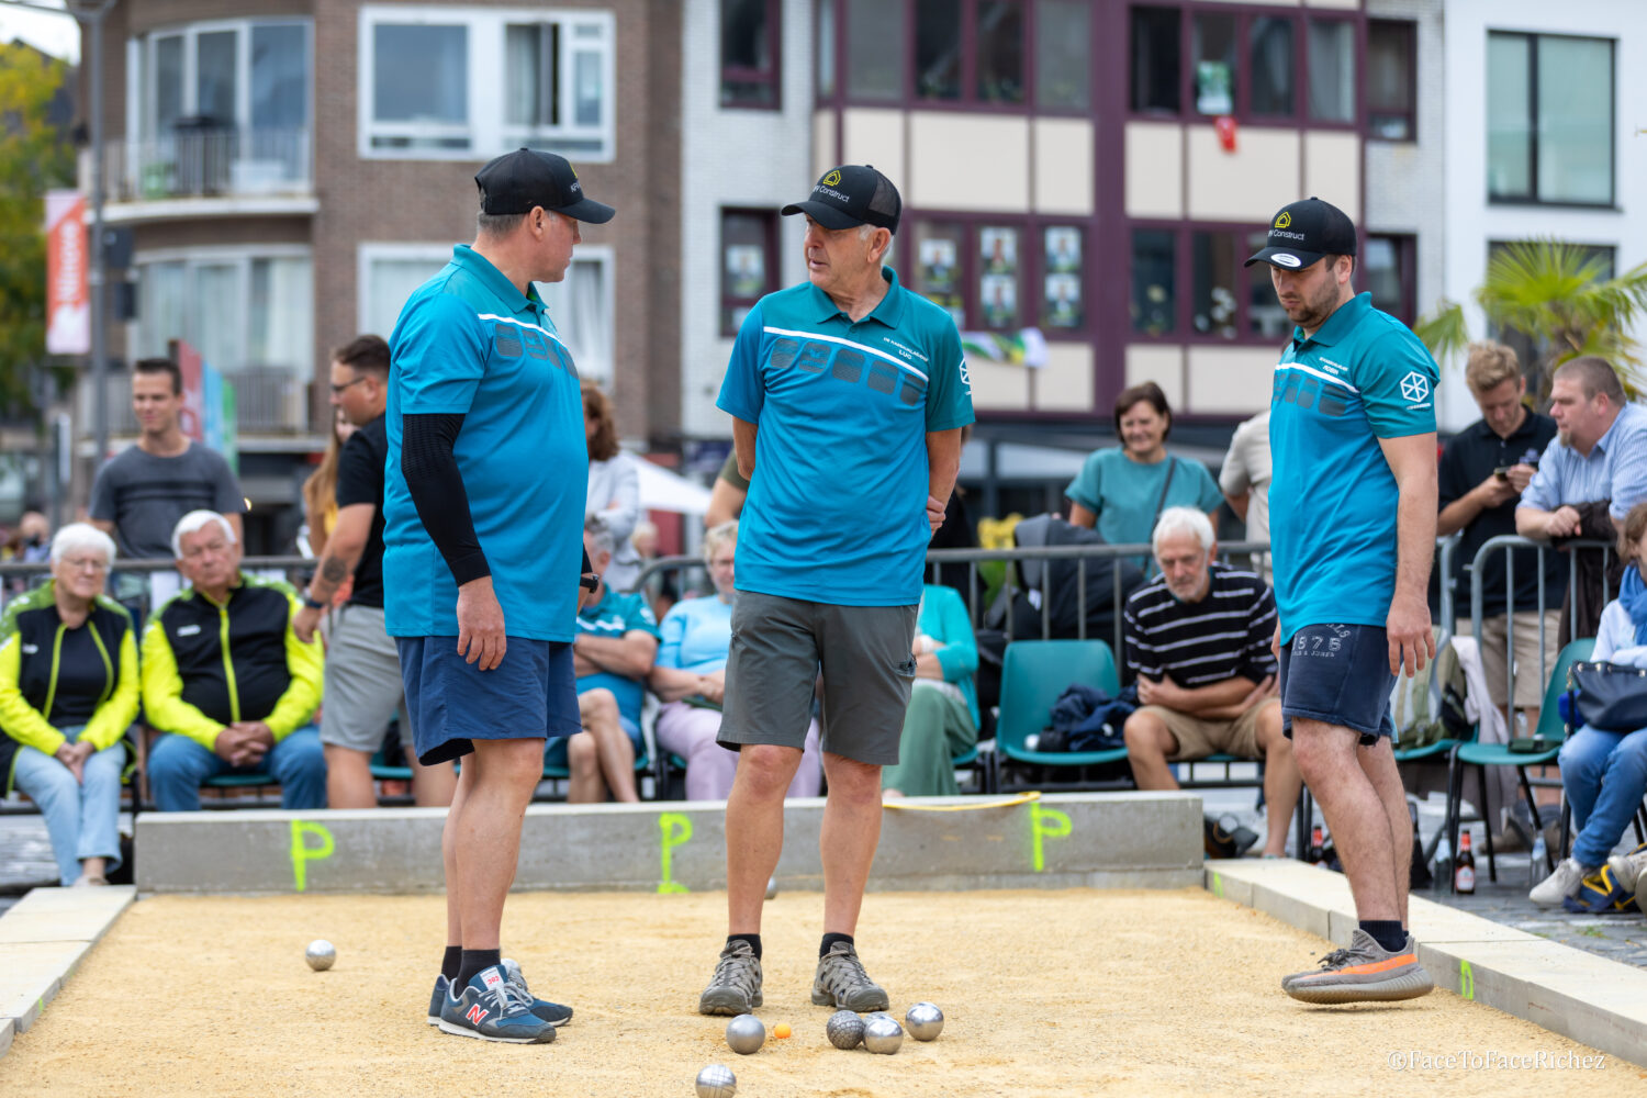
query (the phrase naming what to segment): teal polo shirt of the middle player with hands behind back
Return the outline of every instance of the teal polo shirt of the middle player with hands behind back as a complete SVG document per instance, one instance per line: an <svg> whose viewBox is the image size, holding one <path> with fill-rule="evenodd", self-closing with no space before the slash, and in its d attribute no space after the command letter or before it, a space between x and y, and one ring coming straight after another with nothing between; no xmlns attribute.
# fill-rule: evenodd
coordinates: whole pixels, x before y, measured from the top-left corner
<svg viewBox="0 0 1647 1098"><path fill-rule="evenodd" d="M761 298L718 407L758 426L738 523L738 589L837 606L914 606L932 528L927 431L972 423L949 313L889 283L853 323L812 283Z"/></svg>

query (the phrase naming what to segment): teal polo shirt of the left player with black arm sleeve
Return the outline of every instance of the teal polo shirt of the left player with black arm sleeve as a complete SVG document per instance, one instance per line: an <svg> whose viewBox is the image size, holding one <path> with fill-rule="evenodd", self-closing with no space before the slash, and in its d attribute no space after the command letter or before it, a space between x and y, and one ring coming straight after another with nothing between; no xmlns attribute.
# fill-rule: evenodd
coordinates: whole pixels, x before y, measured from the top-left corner
<svg viewBox="0 0 1647 1098"><path fill-rule="evenodd" d="M412 293L389 336L384 619L395 637L455 637L458 588L400 472L402 416L461 413L453 446L511 637L572 640L588 444L572 352L537 293L473 249Z"/></svg>

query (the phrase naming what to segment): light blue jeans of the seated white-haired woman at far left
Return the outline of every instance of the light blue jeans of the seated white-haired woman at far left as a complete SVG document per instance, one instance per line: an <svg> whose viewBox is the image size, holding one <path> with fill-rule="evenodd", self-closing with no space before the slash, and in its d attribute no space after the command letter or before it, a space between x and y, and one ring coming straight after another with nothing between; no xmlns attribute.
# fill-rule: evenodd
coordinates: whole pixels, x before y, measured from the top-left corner
<svg viewBox="0 0 1647 1098"><path fill-rule="evenodd" d="M81 729L59 728L71 744ZM30 746L16 749L13 780L46 818L46 835L51 836L51 853L58 859L58 877L64 886L81 876L82 858L109 859L104 872L114 872L120 864L120 770L125 769L125 747L92 752L86 759L84 777L76 782L69 767Z"/></svg>

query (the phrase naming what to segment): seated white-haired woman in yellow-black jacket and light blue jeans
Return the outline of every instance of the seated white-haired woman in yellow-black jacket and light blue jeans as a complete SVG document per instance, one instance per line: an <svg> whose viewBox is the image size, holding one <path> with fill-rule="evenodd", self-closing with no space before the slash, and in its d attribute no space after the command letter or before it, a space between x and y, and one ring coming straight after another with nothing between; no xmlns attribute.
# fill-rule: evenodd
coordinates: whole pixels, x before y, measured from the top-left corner
<svg viewBox="0 0 1647 1098"><path fill-rule="evenodd" d="M114 542L84 522L51 540L51 581L0 619L0 772L46 817L66 886L120 864L120 741L137 719L132 616L107 598Z"/></svg>

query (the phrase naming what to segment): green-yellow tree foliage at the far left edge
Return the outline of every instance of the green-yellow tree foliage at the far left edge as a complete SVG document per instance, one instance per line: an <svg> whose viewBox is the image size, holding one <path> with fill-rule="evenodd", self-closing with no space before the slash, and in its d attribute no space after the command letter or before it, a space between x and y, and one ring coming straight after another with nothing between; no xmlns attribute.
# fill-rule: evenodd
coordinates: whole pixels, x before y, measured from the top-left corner
<svg viewBox="0 0 1647 1098"><path fill-rule="evenodd" d="M0 44L0 408L31 407L31 369L46 362L46 206L74 186L74 150L48 120L64 64Z"/></svg>

